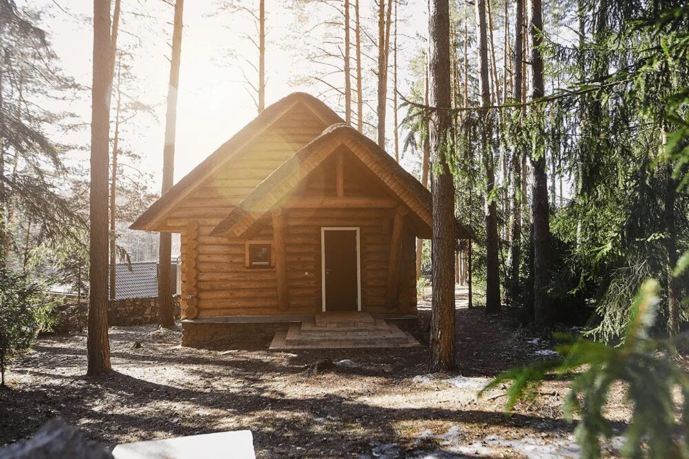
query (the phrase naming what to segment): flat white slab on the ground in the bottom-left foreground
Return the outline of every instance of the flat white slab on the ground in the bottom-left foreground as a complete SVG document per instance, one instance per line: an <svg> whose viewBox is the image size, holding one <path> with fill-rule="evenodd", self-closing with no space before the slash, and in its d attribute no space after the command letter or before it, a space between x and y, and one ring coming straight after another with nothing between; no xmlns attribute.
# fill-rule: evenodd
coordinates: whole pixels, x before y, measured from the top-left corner
<svg viewBox="0 0 689 459"><path fill-rule="evenodd" d="M112 450L112 456L115 459L256 459L250 430L123 443Z"/></svg>

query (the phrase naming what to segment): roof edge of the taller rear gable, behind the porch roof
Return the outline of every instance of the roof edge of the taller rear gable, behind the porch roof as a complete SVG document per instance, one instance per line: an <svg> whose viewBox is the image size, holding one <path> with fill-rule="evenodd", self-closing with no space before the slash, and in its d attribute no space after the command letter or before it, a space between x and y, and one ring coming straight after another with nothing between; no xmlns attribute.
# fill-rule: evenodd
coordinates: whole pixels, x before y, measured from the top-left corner
<svg viewBox="0 0 689 459"><path fill-rule="evenodd" d="M276 122L282 115L287 113L289 109L295 107L299 103L306 105L313 111L318 118L320 118L325 125L332 125L333 123L343 122L342 118L338 116L330 107L322 103L317 98L305 92L294 92L289 94L278 102L270 105L265 110L260 112L254 120L251 120L245 127L243 127L237 134L232 136L223 145L220 145L208 158L203 160L191 172L185 175L179 182L174 184L172 188L167 190L161 198L154 202L144 213L142 213L134 223L130 226L132 229L138 230L152 230L152 226L156 224L158 219L162 217L176 202L185 197L191 192L196 185L209 177L214 171L217 171L230 158L233 158L243 147L245 147L251 140L254 140L258 135L263 133L267 128Z"/></svg>

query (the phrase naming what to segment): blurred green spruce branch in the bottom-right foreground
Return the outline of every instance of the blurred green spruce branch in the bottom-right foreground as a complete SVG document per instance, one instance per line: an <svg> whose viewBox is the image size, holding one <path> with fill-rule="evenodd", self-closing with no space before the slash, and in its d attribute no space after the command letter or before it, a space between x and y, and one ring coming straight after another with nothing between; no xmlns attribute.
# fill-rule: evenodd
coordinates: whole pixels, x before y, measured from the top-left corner
<svg viewBox="0 0 689 459"><path fill-rule="evenodd" d="M504 372L482 392L511 381L506 403L506 408L510 409L520 399L535 394L549 372L560 377L572 376L564 404L565 414L570 419L575 415L581 417L575 436L582 447L582 456L598 458L601 438L613 435L613 427L604 416L608 393L613 384L621 382L625 384L628 402L633 405L632 418L625 432L624 456L689 457L689 374L672 360L673 341L651 337L659 302L659 284L645 281L630 303L630 320L619 346L588 339L560 345L556 350L563 359ZM683 397L679 423L675 420L673 401L676 388ZM678 431L682 426L683 431Z"/></svg>

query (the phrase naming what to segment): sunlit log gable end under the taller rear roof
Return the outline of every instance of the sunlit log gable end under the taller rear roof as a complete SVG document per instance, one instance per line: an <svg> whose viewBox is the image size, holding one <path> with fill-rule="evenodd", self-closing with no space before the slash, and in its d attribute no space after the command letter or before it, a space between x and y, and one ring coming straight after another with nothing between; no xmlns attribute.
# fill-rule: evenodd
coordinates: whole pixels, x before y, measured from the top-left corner
<svg viewBox="0 0 689 459"><path fill-rule="evenodd" d="M194 186L158 219L158 231L181 231L189 221L213 225L223 219L268 175L327 127L298 103L222 167Z"/></svg>

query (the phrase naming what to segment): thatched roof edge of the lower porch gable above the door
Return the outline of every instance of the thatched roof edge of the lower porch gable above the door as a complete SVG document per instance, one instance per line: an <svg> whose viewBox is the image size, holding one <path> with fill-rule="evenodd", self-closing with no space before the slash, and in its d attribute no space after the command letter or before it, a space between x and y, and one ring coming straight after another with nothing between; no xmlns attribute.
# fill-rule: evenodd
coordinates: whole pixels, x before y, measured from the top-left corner
<svg viewBox="0 0 689 459"><path fill-rule="evenodd" d="M279 206L299 182L334 151L348 147L364 164L381 177L387 189L422 220L427 228L433 222L431 193L413 175L407 172L376 142L344 123L331 125L314 138L276 171L260 182L212 231L212 235L231 232L243 235L267 211ZM387 177L382 177L386 175ZM456 235L469 237L469 232L458 222Z"/></svg>

